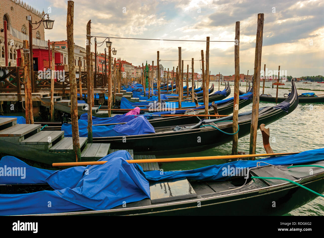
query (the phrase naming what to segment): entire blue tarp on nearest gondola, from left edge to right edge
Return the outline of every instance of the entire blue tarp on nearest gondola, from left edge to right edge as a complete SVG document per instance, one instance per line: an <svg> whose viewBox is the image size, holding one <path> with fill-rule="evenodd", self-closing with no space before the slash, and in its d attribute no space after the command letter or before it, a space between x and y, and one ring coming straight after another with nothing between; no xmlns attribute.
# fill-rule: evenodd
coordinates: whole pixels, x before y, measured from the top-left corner
<svg viewBox="0 0 324 238"><path fill-rule="evenodd" d="M226 164L210 165L203 168L162 172L159 170L143 172L137 164L128 164L127 151L111 153L100 161L100 165L76 166L59 171L31 167L13 156L4 156L0 160L2 173L4 168L26 168L25 178L21 176L0 176L0 184L37 184L48 183L54 191L40 191L29 194L0 194L0 215L41 214L76 210L104 210L118 205L150 198L147 180L159 181L175 178L194 180L224 181L237 176L235 168L253 168L257 162L273 165L306 164L324 159L324 148L305 151L299 154L281 157L269 157L260 160L239 160ZM267 164L260 163L260 166ZM224 175L224 168L234 171ZM1 175L1 169L0 169ZM145 179L146 178L146 179ZM51 207L49 207L51 201Z"/></svg>

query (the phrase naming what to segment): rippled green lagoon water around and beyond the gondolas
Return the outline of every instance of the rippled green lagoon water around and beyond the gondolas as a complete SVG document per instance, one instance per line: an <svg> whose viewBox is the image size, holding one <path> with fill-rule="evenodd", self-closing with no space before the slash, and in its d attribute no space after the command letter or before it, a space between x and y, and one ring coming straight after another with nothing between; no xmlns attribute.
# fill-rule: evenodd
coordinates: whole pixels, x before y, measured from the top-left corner
<svg viewBox="0 0 324 238"><path fill-rule="evenodd" d="M212 82L213 83L213 82ZM211 84L212 84L211 83ZM210 84L210 85L211 85ZM230 82L233 85L234 82ZM191 85L191 84L190 84ZM201 83L199 83L199 86ZM240 90L246 92L245 82L241 82ZM218 90L218 82L214 82L215 91ZM271 82L265 82L264 93L276 96L276 88L271 88ZM280 87L291 87L290 82L285 82L285 85ZM220 90L225 88L220 86ZM296 88L309 88L324 90L323 84L312 83L303 84L296 83ZM312 92L308 90L297 90L298 94ZM322 91L314 91L316 94L324 94ZM260 88L262 93L262 88ZM284 93L289 93L288 89L279 89L278 96L283 97ZM231 94L234 96L234 86L231 86ZM275 105L274 103L260 102L261 107L268 107ZM240 112L249 111L252 109L252 104L239 110ZM299 104L297 108L289 115L267 125L270 128L270 145L274 153L284 152L302 152L306 150L319 149L324 147L324 103L318 104ZM238 151L249 153L249 139L250 135L242 137L238 140ZM184 142L185 143L185 142ZM210 156L210 155L228 155L232 153L232 143L226 143L206 151L196 153L179 154L176 157L192 157L192 156ZM257 149L256 153L265 153L262 143L262 135L258 130L257 135ZM157 158L166 158L170 156L158 156ZM206 160L206 161L187 161L187 162L173 162L160 163L160 168L164 171L169 170L187 170L195 169L212 164L222 164L231 162L232 160ZM307 191L305 191L307 192ZM324 215L323 198L316 198L315 200L305 204L304 206L289 212L286 215Z"/></svg>

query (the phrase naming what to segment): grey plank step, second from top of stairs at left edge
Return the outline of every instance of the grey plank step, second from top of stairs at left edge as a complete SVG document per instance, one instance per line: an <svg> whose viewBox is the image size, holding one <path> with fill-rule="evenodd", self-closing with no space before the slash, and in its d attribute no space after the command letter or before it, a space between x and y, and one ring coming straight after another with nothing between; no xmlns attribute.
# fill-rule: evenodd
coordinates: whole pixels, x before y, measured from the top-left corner
<svg viewBox="0 0 324 238"><path fill-rule="evenodd" d="M0 130L0 137L22 137L31 132L39 132L41 130L40 124L16 124L4 130Z"/></svg>

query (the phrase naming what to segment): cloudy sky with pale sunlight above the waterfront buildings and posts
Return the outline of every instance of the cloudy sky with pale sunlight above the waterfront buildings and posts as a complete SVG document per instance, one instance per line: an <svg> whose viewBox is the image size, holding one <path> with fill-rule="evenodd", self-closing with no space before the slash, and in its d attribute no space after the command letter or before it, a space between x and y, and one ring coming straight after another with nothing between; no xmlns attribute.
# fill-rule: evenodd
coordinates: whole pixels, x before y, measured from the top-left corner
<svg viewBox="0 0 324 238"><path fill-rule="evenodd" d="M66 0L27 0L49 12L52 30L45 40L66 40ZM160 63L170 70L178 65L181 47L184 68L201 72L201 50L206 42L163 40L234 41L235 23L240 22L240 73L253 74L258 13L264 13L261 68L286 71L293 77L324 75L324 1L291 0L77 0L74 4L74 41L85 47L86 25L91 35L160 40L110 39L112 48L133 65ZM92 38L92 43L94 43ZM97 38L103 41L105 38ZM104 52L105 44L97 48ZM94 51L94 46L91 46ZM165 61L168 60L168 61ZM175 61L170 61L175 60ZM234 74L234 42L210 42L211 74Z"/></svg>

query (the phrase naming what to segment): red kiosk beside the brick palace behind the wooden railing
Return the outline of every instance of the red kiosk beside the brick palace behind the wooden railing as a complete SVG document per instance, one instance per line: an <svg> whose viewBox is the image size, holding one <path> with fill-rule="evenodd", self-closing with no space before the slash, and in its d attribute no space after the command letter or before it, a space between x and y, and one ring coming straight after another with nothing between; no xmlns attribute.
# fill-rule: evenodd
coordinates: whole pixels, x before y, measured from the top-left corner
<svg viewBox="0 0 324 238"><path fill-rule="evenodd" d="M48 47L33 46L33 65L34 71L45 71L48 67L51 68L51 62L48 59ZM52 60L52 51L50 50ZM17 50L17 66L21 66L20 49ZM55 70L63 70L63 54L55 52Z"/></svg>

